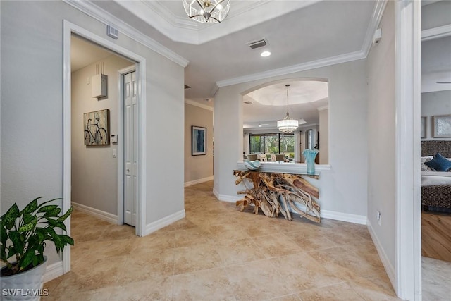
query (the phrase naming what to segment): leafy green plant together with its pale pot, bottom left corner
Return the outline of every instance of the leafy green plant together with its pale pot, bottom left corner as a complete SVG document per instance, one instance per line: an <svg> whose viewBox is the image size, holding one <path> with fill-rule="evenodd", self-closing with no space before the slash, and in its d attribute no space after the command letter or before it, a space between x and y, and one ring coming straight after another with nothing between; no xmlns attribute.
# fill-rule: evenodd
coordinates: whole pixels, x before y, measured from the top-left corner
<svg viewBox="0 0 451 301"><path fill-rule="evenodd" d="M57 228L66 231L64 221L73 208L59 216L61 208L49 204L57 199L38 204L41 198L33 199L22 211L14 203L0 217L2 300L39 300L47 265L46 242L54 242L58 253L66 245L73 245L70 236L55 231Z"/></svg>

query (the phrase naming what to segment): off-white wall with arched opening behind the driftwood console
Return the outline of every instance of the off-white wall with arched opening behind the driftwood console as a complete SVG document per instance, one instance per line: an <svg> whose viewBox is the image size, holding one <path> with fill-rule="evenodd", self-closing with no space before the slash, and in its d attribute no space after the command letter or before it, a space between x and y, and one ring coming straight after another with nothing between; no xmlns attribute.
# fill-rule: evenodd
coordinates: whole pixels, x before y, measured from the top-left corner
<svg viewBox="0 0 451 301"><path fill-rule="evenodd" d="M307 70L267 80L219 88L214 111L214 192L223 200L237 199L233 169L242 160L242 93L273 80L325 78L329 82L329 164L321 171L319 204L323 213L350 214L366 222L367 142L365 61ZM350 217L350 216L348 216Z"/></svg>

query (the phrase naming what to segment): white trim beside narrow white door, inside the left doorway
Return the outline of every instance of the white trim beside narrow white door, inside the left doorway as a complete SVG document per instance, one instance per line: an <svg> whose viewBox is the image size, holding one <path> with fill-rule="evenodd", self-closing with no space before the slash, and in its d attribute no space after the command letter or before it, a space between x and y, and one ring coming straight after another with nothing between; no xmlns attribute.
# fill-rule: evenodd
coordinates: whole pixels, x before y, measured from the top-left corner
<svg viewBox="0 0 451 301"><path fill-rule="evenodd" d="M124 223L124 78L127 73L136 71L137 66L132 65L118 70L118 225ZM138 181L140 179L138 178Z"/></svg>

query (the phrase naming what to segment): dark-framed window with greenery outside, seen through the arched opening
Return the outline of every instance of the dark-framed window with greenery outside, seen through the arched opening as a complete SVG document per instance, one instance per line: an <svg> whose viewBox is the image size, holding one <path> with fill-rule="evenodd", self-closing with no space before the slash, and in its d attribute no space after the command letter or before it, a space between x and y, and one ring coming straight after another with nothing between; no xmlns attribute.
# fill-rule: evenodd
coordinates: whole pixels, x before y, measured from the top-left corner
<svg viewBox="0 0 451 301"><path fill-rule="evenodd" d="M252 154L285 154L290 159L295 157L295 134L250 134L249 152Z"/></svg>

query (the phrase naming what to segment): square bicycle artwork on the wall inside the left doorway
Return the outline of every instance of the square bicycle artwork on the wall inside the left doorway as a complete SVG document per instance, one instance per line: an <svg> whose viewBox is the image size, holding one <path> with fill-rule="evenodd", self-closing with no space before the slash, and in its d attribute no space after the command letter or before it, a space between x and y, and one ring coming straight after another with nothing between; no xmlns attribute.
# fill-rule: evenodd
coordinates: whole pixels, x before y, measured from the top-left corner
<svg viewBox="0 0 451 301"><path fill-rule="evenodd" d="M85 145L109 145L110 110L83 114Z"/></svg>

